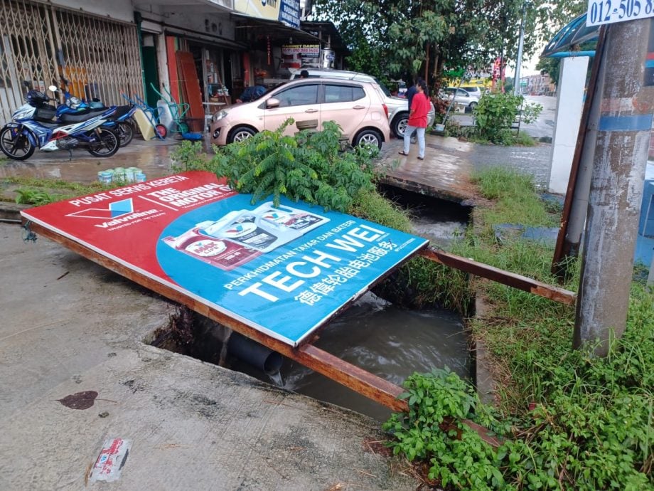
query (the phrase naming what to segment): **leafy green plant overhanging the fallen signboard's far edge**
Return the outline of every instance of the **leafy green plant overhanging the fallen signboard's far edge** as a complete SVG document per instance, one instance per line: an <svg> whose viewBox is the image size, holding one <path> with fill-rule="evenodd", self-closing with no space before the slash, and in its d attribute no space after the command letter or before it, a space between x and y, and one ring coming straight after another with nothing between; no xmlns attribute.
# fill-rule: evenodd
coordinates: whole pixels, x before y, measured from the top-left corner
<svg viewBox="0 0 654 491"><path fill-rule="evenodd" d="M339 152L341 129L331 121L320 132L284 135L293 122L289 119L274 132L259 132L242 142L216 147L211 159L201 153L201 145L184 142L173 161L186 169L227 177L230 186L252 194L252 204L272 195L277 206L281 196L286 196L326 210L347 211L360 192L373 189L372 159L377 147Z"/></svg>

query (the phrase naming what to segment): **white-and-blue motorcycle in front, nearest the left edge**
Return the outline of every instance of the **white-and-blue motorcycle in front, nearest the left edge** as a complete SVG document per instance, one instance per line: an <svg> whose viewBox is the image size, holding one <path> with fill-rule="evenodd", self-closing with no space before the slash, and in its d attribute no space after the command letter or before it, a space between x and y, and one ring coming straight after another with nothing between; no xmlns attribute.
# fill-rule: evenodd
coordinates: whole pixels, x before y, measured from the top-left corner
<svg viewBox="0 0 654 491"><path fill-rule="evenodd" d="M26 104L11 115L11 122L0 130L0 150L10 159L26 160L39 148L43 152L72 150L80 147L94 157L111 157L120 147L114 130L102 127L115 114L109 108L102 114L70 125L52 122L55 107L48 105L50 99L38 90L29 90Z"/></svg>

